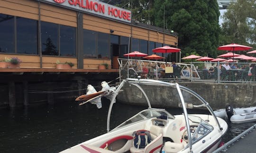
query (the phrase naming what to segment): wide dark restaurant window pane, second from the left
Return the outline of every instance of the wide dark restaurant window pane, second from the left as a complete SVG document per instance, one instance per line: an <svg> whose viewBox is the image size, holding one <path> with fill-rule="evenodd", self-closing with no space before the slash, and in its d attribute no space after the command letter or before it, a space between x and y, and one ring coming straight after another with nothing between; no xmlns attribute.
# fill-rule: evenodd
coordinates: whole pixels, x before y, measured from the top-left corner
<svg viewBox="0 0 256 153"><path fill-rule="evenodd" d="M17 17L17 53L37 53L37 21Z"/></svg>

